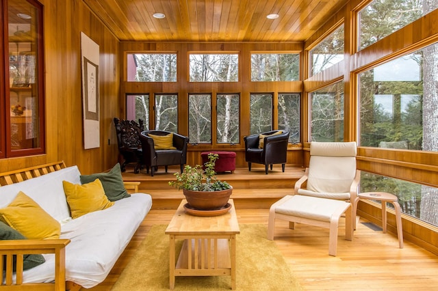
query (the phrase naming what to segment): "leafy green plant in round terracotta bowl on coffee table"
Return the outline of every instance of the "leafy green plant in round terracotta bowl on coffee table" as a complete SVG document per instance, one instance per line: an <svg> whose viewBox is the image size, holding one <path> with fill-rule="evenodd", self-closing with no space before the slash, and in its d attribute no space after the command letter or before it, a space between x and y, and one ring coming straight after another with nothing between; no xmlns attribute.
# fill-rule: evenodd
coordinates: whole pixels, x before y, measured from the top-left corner
<svg viewBox="0 0 438 291"><path fill-rule="evenodd" d="M209 154L208 161L201 165L185 165L182 173L175 173L176 180L170 186L183 190L188 204L196 210L218 210L227 205L233 187L216 177L214 165L218 154Z"/></svg>

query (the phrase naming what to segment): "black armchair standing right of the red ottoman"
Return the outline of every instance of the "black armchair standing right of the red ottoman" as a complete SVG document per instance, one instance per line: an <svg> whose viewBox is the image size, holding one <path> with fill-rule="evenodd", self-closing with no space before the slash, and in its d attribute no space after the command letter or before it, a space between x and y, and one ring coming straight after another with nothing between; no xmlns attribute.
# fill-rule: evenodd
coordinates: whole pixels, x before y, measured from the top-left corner
<svg viewBox="0 0 438 291"><path fill-rule="evenodd" d="M265 165L265 173L268 174L268 165L272 170L273 164L281 164L283 172L287 162L287 143L289 131L272 130L267 133L248 135L245 141L245 161L248 162L248 170L251 171L251 163Z"/></svg>

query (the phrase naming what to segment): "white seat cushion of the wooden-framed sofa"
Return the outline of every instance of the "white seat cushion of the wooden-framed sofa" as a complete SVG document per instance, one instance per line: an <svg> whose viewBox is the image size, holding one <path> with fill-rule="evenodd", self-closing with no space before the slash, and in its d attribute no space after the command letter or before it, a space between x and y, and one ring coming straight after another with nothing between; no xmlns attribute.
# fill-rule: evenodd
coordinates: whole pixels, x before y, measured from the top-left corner
<svg viewBox="0 0 438 291"><path fill-rule="evenodd" d="M92 288L110 273L133 234L152 206L149 194L136 193L114 206L98 210L62 225L60 238L69 238L66 247L66 280ZM23 273L26 283L54 279L54 257Z"/></svg>

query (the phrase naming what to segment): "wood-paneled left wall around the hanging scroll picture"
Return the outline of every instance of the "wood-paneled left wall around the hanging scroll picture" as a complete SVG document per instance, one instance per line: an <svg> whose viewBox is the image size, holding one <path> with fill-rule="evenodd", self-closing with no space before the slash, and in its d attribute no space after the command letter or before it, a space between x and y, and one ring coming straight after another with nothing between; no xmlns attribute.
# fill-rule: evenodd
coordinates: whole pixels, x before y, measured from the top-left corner
<svg viewBox="0 0 438 291"><path fill-rule="evenodd" d="M119 112L119 42L82 0L40 0L44 5L47 154L0 160L1 171L64 160L82 174L117 162L112 118ZM83 31L100 48L100 148L83 149L81 42ZM110 145L108 145L110 141Z"/></svg>

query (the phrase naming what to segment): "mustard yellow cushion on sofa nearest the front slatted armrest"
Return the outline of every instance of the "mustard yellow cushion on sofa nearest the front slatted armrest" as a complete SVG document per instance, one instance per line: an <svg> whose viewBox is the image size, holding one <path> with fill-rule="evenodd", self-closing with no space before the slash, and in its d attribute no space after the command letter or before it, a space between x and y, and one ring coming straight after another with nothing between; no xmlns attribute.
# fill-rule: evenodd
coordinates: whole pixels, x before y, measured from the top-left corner
<svg viewBox="0 0 438 291"><path fill-rule="evenodd" d="M60 238L60 223L21 191L8 207L0 209L0 219L25 238Z"/></svg>

